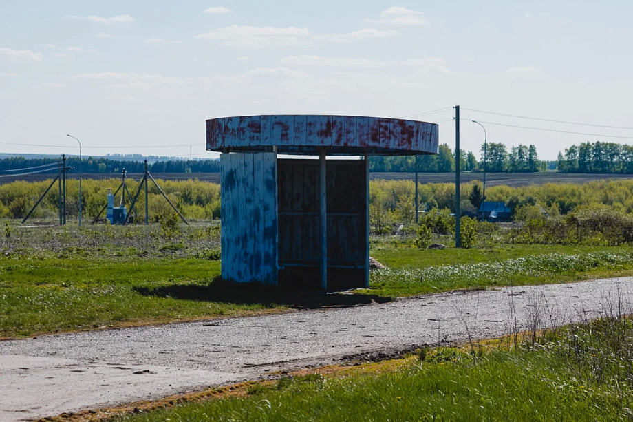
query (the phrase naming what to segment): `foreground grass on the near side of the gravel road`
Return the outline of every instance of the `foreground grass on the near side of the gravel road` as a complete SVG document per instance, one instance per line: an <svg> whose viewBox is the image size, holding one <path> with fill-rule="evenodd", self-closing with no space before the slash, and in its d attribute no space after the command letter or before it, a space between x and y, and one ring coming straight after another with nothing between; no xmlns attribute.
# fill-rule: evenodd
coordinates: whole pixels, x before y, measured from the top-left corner
<svg viewBox="0 0 633 422"><path fill-rule="evenodd" d="M633 416L633 325L621 315L523 344L420 351L361 370L114 418L154 421L614 421ZM535 341L534 341L535 340ZM512 346L512 347L510 347ZM378 368L379 368L378 364ZM176 402L178 403L178 402Z"/></svg>

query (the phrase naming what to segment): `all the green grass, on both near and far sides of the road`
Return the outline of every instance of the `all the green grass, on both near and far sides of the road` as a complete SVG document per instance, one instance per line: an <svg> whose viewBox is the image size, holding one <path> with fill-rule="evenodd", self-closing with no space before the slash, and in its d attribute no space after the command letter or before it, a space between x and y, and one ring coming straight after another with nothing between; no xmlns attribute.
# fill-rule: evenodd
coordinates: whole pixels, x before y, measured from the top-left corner
<svg viewBox="0 0 633 422"><path fill-rule="evenodd" d="M633 275L629 246L482 244L429 251L411 248L411 242L377 239L371 254L388 267L372 271L369 289L354 295L297 295L222 282L217 230L193 227L172 233L136 227L21 233L6 238L1 249L0 337L386 302L457 288ZM283 377L256 383L241 397L119 419L630 420L633 327L627 324L603 331L595 326L581 335L570 331L537 347L488 350L476 359L467 348L440 348L397 363L376 363L367 372L361 366L343 374Z"/></svg>

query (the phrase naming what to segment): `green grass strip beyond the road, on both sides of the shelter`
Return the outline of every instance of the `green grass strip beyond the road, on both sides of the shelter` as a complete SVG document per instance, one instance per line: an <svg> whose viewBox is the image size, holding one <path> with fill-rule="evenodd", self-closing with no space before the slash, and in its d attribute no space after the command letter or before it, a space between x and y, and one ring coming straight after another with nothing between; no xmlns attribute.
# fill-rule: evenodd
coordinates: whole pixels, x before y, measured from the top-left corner
<svg viewBox="0 0 633 422"><path fill-rule="evenodd" d="M414 251L410 263L372 271L370 288L356 295L301 295L235 286L219 280L219 261L181 257L140 257L133 253L26 251L0 255L0 338L26 337L95 328L163 324L215 317L388 302L391 297L521 284L570 282L633 274L632 249L619 246L575 251L541 247L514 260L471 263L480 251ZM590 252L579 252L590 251ZM427 254L433 252L433 255ZM397 256L400 251L389 251ZM449 253L449 260L436 261ZM509 253L508 253L509 254ZM509 256L508 254L502 255ZM83 255L83 256L82 256ZM483 260L483 258L482 258ZM500 263L501 262L501 263Z"/></svg>

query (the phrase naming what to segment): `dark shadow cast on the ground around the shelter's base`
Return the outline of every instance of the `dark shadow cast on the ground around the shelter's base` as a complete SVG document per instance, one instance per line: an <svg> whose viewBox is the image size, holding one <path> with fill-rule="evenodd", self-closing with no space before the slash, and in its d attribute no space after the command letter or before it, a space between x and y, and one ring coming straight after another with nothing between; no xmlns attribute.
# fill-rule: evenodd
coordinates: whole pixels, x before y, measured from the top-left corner
<svg viewBox="0 0 633 422"><path fill-rule="evenodd" d="M172 299L222 302L227 304L292 308L327 308L330 306L358 306L391 302L391 297L380 295L354 295L351 293L299 292L281 288L266 288L259 284L234 284L215 279L208 286L175 284L160 287L136 287L144 296L171 297Z"/></svg>

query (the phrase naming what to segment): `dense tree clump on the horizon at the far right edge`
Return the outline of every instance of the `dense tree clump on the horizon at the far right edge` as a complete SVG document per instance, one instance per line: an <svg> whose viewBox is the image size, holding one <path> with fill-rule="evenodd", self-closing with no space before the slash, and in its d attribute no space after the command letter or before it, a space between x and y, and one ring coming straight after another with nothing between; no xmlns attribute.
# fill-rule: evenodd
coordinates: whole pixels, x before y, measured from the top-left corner
<svg viewBox="0 0 633 422"><path fill-rule="evenodd" d="M633 146L581 143L558 153L557 167L566 173L633 173Z"/></svg>

